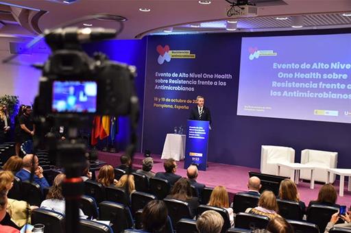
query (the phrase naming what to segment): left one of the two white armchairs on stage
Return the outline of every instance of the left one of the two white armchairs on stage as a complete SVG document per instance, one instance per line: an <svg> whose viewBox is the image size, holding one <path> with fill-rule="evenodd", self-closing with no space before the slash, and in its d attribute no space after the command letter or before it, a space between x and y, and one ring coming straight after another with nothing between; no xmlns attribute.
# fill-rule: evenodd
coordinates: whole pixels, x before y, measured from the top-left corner
<svg viewBox="0 0 351 233"><path fill-rule="evenodd" d="M291 147L261 146L261 173L277 175L277 163L289 163L294 161L295 149ZM280 175L290 177L291 171L282 167L280 169Z"/></svg>

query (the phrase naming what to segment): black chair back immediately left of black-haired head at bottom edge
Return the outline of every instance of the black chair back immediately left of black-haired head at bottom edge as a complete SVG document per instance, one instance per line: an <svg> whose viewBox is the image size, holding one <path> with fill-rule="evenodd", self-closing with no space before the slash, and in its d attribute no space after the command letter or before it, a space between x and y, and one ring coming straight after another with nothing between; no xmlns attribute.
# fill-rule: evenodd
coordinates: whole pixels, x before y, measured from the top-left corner
<svg viewBox="0 0 351 233"><path fill-rule="evenodd" d="M112 201L102 201L99 204L99 219L111 221L113 232L123 232L133 226L132 214L128 206Z"/></svg>

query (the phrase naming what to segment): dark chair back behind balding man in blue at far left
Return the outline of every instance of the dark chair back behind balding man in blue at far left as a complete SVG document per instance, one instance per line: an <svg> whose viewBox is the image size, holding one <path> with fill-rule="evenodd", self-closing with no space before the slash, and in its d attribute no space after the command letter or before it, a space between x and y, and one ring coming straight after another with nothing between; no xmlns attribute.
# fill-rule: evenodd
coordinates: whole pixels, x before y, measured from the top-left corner
<svg viewBox="0 0 351 233"><path fill-rule="evenodd" d="M31 206L40 206L43 201L43 193L41 193L39 184L22 182L22 200L27 201Z"/></svg>

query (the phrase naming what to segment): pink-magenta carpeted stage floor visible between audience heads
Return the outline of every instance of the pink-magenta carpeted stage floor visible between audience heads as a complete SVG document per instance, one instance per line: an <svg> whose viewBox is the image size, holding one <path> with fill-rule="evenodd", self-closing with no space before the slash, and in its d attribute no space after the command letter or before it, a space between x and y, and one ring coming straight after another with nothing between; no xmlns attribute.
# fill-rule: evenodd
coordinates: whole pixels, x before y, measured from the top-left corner
<svg viewBox="0 0 351 233"><path fill-rule="evenodd" d="M99 160L104 160L111 164L113 167L116 167L120 164L119 158L122 153L107 153L99 151ZM152 155L154 159L154 168L152 171L155 173L158 171L165 171L163 168L163 160L160 158L161 156ZM145 157L143 154L136 154L134 156L133 167L135 169L141 168L141 163ZM184 169L184 162L177 162L178 169L177 174L186 177L186 169ZM215 162L208 162L207 171L199 171L199 177L197 178L197 182L206 184L209 187L215 187L217 185L226 186L228 192L230 193L230 200L232 200L232 196L234 193L247 191L247 179L249 177L249 171L259 172L259 169L254 169L250 167L240 167L228 164L219 164ZM337 203L350 206L351 204L351 192L348 191L347 187L348 182L345 182L344 187L344 196L339 197L339 180L337 180L334 185L337 189L338 198ZM298 184L298 190L300 192L300 197L302 201L305 202L306 206L309 201L317 199L318 191L322 184L315 184L315 189L309 188L309 183L300 182Z"/></svg>

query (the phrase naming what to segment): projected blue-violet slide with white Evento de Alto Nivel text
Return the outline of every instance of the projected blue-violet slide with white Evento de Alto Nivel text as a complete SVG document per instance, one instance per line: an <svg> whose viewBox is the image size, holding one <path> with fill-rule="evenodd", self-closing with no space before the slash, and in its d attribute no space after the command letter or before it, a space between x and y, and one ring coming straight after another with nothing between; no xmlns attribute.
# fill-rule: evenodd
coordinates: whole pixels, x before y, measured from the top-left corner
<svg viewBox="0 0 351 233"><path fill-rule="evenodd" d="M243 38L237 114L351 123L351 34Z"/></svg>

